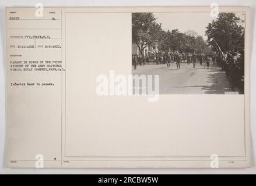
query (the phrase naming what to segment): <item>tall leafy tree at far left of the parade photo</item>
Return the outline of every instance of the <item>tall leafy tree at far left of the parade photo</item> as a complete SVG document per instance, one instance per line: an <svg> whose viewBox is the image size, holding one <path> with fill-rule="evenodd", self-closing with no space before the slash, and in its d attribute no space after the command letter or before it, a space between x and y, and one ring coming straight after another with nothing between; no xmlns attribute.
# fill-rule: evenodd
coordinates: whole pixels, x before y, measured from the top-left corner
<svg viewBox="0 0 256 186"><path fill-rule="evenodd" d="M153 13L132 13L132 43L139 52L158 41L162 32L161 24L156 23Z"/></svg>

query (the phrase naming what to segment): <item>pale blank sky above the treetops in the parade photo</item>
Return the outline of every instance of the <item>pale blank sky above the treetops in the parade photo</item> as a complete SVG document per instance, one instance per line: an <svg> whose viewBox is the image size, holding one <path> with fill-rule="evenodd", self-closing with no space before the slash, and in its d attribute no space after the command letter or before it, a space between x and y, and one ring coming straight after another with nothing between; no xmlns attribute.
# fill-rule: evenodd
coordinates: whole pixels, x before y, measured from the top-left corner
<svg viewBox="0 0 256 186"><path fill-rule="evenodd" d="M173 30L178 28L182 33L188 30L194 30L201 35L204 40L207 39L205 35L206 26L208 23L215 20L217 17L212 17L209 12L164 12L153 13L157 17L157 23L162 23L164 30ZM237 12L241 20L244 20L244 14Z"/></svg>

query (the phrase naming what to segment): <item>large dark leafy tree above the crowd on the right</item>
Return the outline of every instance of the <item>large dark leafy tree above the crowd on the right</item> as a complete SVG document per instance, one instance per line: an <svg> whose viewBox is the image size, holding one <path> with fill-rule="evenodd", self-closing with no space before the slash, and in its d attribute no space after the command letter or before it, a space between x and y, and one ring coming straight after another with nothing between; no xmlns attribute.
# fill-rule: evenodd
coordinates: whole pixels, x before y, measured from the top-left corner
<svg viewBox="0 0 256 186"><path fill-rule="evenodd" d="M243 51L244 27L242 20L235 13L219 13L219 17L206 27L208 42L213 37L223 52ZM216 49L211 46L216 51Z"/></svg>

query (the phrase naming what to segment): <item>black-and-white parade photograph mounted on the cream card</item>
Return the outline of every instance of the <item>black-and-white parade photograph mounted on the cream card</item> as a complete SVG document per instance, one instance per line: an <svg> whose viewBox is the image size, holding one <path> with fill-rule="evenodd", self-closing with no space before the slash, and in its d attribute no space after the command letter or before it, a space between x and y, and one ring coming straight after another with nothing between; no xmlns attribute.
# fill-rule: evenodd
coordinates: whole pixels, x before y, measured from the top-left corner
<svg viewBox="0 0 256 186"><path fill-rule="evenodd" d="M132 13L132 75L159 94L244 94L245 13Z"/></svg>

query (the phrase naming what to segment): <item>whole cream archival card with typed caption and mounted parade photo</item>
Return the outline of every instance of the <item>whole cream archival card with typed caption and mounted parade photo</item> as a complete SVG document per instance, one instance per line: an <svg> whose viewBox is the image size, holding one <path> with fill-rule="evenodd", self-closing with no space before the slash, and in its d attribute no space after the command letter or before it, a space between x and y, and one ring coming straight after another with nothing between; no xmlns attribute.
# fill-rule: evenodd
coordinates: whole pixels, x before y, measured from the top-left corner
<svg viewBox="0 0 256 186"><path fill-rule="evenodd" d="M249 7L6 8L6 165L250 167Z"/></svg>

